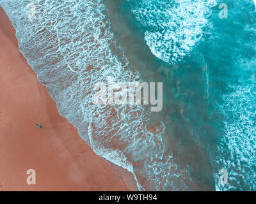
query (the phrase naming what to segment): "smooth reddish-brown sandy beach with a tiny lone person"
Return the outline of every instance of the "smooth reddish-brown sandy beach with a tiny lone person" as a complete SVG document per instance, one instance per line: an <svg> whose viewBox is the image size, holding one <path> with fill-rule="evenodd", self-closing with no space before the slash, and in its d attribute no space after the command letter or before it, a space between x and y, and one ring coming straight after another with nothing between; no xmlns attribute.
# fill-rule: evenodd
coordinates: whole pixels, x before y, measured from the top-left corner
<svg viewBox="0 0 256 204"><path fill-rule="evenodd" d="M137 190L131 173L97 156L59 115L2 8L0 28L0 191ZM35 185L26 182L28 169L36 171Z"/></svg>

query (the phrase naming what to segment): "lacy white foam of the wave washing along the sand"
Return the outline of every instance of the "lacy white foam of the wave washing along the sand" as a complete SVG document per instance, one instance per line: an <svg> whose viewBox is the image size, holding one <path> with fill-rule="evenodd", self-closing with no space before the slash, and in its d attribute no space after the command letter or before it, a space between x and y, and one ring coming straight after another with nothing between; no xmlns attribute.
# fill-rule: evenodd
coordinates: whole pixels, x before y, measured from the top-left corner
<svg viewBox="0 0 256 204"><path fill-rule="evenodd" d="M56 101L59 113L96 154L131 171L140 190L189 189L188 169L180 169L163 143L164 124L150 124L139 105L95 105L93 86L140 81L113 39L100 0L35 0L0 4L12 20L19 50Z"/></svg>

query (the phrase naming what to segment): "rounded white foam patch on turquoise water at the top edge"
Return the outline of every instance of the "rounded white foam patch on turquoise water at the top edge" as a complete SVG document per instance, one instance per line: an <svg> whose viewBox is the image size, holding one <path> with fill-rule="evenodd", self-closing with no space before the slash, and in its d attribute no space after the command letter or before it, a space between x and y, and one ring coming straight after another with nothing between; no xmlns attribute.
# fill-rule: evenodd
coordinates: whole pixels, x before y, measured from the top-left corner
<svg viewBox="0 0 256 204"><path fill-rule="evenodd" d="M202 0L143 0L132 12L147 27L145 40L152 54L172 63L182 60L201 40L203 28L209 23L207 15L215 4Z"/></svg>

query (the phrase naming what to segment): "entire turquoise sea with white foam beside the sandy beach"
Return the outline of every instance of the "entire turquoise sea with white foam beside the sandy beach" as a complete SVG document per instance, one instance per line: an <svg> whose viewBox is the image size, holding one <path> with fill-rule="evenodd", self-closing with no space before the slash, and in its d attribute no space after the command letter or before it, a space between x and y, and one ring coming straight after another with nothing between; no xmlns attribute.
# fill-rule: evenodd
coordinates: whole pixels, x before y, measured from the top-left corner
<svg viewBox="0 0 256 204"><path fill-rule="evenodd" d="M0 0L60 114L138 189L256 190L255 4L221 3ZM163 110L95 105L109 78L163 82Z"/></svg>

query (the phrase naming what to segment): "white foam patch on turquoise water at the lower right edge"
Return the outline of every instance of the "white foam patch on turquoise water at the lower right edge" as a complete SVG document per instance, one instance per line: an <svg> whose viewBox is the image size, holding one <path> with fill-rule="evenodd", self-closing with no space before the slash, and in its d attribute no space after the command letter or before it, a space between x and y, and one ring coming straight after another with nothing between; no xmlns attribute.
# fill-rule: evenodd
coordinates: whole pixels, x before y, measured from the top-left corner
<svg viewBox="0 0 256 204"><path fill-rule="evenodd" d="M221 107L225 115L225 135L218 147L216 164L228 172L228 184L218 183L218 191L255 190L256 178L256 94L255 85L239 85L233 92L223 96Z"/></svg>

